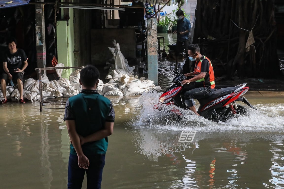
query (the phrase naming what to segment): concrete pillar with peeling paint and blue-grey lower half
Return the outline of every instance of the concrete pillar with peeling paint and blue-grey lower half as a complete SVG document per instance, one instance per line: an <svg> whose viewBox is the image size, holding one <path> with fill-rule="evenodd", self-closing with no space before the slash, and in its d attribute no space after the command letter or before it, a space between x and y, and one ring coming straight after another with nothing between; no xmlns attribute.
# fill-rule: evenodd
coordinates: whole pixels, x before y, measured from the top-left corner
<svg viewBox="0 0 284 189"><path fill-rule="evenodd" d="M148 79L158 85L157 18L147 19Z"/></svg>

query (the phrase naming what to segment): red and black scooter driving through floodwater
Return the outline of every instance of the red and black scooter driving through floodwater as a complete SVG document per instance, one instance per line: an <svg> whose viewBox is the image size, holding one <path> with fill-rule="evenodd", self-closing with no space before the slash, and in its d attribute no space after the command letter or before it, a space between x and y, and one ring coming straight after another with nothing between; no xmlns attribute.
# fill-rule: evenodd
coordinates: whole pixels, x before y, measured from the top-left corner
<svg viewBox="0 0 284 189"><path fill-rule="evenodd" d="M181 81L187 79L183 75L183 69L178 63L179 73L173 79L173 84L166 92L164 92L160 98L159 103L155 105L154 109L160 109L163 105L175 105L176 107L186 109L183 100L183 94L181 90L184 86L181 85ZM246 87L246 83L237 85L235 87L221 88L214 91L210 97L204 99L197 99L199 101L198 113L200 116L208 120L226 121L229 118L233 118L237 115L249 115L245 107L237 105L237 101L241 101L247 104L252 109L254 108L249 101L243 96L249 87ZM170 110L177 115L182 115L178 108L173 108Z"/></svg>

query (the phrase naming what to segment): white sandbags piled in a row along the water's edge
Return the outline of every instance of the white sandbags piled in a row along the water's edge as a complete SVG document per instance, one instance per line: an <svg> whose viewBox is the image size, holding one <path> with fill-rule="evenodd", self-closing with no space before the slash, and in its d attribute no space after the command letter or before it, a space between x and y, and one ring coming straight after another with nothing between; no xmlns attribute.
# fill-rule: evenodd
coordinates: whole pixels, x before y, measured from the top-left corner
<svg viewBox="0 0 284 189"><path fill-rule="evenodd" d="M97 86L97 91L105 96L128 96L141 94L151 89L160 90L160 86L155 86L153 81L146 80L145 77L140 79L123 70L113 70L110 75L110 81L103 83L101 80ZM110 77L107 76L107 77ZM80 70L74 71L69 79L60 77L59 80L49 81L46 75L42 75L43 99L57 97L71 97L80 92L79 83ZM7 86L6 94L8 99L19 100L19 91L16 87ZM24 82L24 98L30 101L39 99L39 81L29 78ZM3 99L3 93L0 91L0 100Z"/></svg>

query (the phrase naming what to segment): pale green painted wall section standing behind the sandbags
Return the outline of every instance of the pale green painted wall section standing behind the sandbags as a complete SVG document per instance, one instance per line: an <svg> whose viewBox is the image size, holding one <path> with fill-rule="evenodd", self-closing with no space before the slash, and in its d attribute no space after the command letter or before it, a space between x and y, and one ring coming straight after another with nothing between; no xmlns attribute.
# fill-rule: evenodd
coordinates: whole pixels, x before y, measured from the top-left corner
<svg viewBox="0 0 284 189"><path fill-rule="evenodd" d="M73 10L69 9L70 19L58 20L56 26L57 33L57 56L58 63L63 63L64 66L74 67L74 25L73 25ZM74 69L64 69L62 77L68 78Z"/></svg>

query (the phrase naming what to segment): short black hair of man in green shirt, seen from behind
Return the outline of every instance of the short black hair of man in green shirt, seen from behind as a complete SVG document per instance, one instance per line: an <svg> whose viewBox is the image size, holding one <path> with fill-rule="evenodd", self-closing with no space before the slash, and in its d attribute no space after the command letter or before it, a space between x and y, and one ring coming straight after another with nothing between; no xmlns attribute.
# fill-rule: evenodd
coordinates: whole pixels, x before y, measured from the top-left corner
<svg viewBox="0 0 284 189"><path fill-rule="evenodd" d="M94 87L99 77L99 70L93 65L87 65L80 71L81 82L86 87Z"/></svg>

